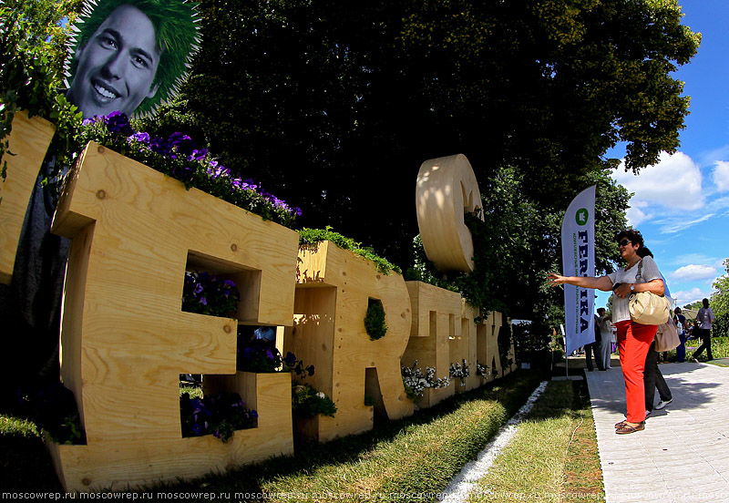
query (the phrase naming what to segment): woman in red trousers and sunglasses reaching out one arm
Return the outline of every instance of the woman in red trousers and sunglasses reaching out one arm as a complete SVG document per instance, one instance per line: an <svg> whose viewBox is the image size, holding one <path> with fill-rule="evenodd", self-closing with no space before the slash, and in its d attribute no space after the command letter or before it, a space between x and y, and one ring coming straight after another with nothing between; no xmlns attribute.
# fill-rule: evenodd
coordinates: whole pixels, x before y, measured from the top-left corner
<svg viewBox="0 0 729 503"><path fill-rule="evenodd" d="M621 369L625 379L625 398L628 416L615 425L615 433L626 434L645 428L645 388L643 370L645 357L656 333L656 325L644 325L631 320L629 302L631 293L652 292L663 294L661 272L651 252L643 243L640 231L621 231L616 238L621 258L626 262L617 272L600 278L589 276L560 276L549 274L551 285L573 284L581 288L594 288L615 293L612 301L612 323L618 330Z"/></svg>

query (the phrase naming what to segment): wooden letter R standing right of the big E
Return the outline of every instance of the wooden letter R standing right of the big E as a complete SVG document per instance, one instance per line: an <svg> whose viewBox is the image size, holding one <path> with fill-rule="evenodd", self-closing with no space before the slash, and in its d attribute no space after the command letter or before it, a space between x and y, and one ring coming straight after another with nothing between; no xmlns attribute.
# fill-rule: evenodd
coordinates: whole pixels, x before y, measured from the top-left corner
<svg viewBox="0 0 729 503"><path fill-rule="evenodd" d="M371 429L374 411L364 405L365 389L390 419L411 415L400 374L410 334L403 277L379 272L374 262L330 241L300 249L297 276L295 322L286 329L284 349L314 365L307 382L337 406L334 417L315 417L307 435L327 441ZM364 330L370 298L385 308L387 333L376 341Z"/></svg>

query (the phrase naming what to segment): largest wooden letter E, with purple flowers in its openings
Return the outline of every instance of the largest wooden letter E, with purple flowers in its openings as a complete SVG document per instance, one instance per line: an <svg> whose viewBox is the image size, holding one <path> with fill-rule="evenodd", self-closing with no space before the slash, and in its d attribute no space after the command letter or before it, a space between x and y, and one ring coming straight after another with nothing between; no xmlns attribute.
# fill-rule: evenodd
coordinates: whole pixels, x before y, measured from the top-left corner
<svg viewBox="0 0 729 503"><path fill-rule="evenodd" d="M95 143L69 176L53 222L73 240L61 375L87 445L52 447L64 486L139 487L291 454L291 377L236 376L236 334L293 323L298 234ZM241 286L239 320L181 311L195 268ZM180 374L229 375L219 385L258 409L258 427L226 444L183 438Z"/></svg>

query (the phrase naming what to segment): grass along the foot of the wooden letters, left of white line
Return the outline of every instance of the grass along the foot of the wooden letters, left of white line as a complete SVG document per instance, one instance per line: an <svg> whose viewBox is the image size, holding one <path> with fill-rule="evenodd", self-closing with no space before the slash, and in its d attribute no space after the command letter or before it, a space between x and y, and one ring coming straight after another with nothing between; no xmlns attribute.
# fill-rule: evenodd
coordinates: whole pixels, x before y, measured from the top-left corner
<svg viewBox="0 0 729 503"><path fill-rule="evenodd" d="M294 457L149 490L230 493L235 501L434 501L545 378L549 375L519 371L415 416L375 424L360 436L297 446ZM571 431L566 443L569 436ZM0 468L3 491L61 491L42 439L27 421L0 416ZM260 496L244 498L245 493Z"/></svg>

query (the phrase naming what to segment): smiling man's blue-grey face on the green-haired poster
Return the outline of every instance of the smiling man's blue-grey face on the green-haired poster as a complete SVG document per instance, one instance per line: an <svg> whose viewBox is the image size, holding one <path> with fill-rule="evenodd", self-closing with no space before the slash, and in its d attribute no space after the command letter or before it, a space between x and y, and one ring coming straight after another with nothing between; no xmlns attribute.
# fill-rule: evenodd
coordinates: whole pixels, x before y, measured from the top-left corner
<svg viewBox="0 0 729 503"><path fill-rule="evenodd" d="M78 64L68 88L68 101L84 118L119 110L131 115L152 86L161 51L149 17L132 5L120 5L77 49Z"/></svg>

